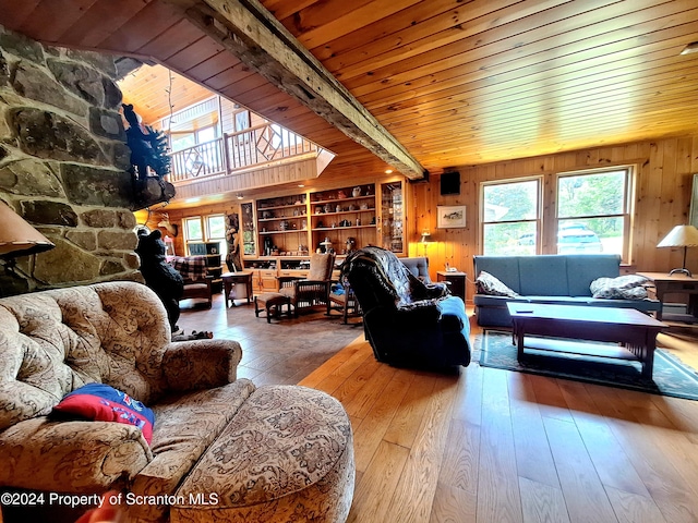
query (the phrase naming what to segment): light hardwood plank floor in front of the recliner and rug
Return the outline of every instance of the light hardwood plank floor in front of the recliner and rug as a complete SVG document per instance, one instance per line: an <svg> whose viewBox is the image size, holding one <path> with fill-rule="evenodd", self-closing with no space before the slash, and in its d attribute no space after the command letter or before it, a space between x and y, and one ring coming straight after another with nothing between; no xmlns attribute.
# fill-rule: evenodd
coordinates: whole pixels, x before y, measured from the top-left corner
<svg viewBox="0 0 698 523"><path fill-rule="evenodd" d="M697 333L674 329L659 342L698 368ZM300 385L333 394L351 417L350 522L698 521L696 401L477 362L459 376L398 369L362 337Z"/></svg>

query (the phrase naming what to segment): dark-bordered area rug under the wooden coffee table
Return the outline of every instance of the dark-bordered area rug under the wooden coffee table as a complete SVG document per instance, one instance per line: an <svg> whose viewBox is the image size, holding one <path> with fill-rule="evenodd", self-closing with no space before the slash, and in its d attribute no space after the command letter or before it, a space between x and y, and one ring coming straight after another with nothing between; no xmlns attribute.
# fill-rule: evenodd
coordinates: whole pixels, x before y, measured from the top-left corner
<svg viewBox="0 0 698 523"><path fill-rule="evenodd" d="M558 355L527 349L524 363L519 363L516 345L512 343L512 332L485 330L476 337L474 345L476 351L480 352L479 362L483 367L698 400L698 373L662 349L654 351L654 369L649 381L642 379L639 362Z"/></svg>

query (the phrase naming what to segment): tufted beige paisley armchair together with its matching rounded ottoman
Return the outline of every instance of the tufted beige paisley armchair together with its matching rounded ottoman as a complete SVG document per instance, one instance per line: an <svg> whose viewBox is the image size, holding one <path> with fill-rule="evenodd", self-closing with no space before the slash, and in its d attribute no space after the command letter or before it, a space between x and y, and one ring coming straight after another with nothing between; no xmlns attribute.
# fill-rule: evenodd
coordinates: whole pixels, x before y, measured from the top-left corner
<svg viewBox="0 0 698 523"><path fill-rule="evenodd" d="M341 404L236 379L241 354L230 340L171 342L161 302L140 283L1 299L0 487L118 489L127 521L345 521L354 464ZM89 382L155 412L149 445L132 425L51 415Z"/></svg>

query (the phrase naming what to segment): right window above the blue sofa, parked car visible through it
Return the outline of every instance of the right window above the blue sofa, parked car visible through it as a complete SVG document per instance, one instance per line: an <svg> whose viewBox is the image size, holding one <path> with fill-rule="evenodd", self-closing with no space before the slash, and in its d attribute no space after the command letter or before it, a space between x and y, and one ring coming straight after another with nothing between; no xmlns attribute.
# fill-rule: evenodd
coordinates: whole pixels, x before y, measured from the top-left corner
<svg viewBox="0 0 698 523"><path fill-rule="evenodd" d="M557 253L611 253L627 258L630 169L561 174Z"/></svg>

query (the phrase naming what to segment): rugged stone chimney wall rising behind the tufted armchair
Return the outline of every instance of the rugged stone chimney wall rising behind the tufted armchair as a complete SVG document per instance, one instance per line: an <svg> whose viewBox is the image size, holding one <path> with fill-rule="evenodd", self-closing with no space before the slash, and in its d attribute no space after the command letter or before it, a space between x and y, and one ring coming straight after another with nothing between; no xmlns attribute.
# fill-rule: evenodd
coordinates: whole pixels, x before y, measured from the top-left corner
<svg viewBox="0 0 698 523"><path fill-rule="evenodd" d="M140 278L116 77L115 57L0 26L0 199L56 244L0 269L1 294Z"/></svg>

